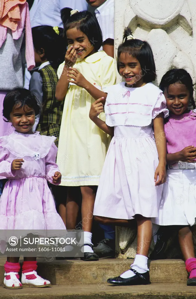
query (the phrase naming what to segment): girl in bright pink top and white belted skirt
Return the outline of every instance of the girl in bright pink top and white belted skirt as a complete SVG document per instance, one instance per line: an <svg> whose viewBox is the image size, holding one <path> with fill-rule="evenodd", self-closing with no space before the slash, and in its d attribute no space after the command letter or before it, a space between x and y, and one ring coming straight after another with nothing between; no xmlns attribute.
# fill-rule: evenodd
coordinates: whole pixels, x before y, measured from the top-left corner
<svg viewBox="0 0 196 299"><path fill-rule="evenodd" d="M177 225L180 248L189 272L187 285L193 286L196 285L196 258L191 227L196 217L196 110L191 76L183 69L170 70L163 76L160 89L170 111L164 126L167 179L158 217L152 222ZM190 110L190 106L194 110Z"/></svg>

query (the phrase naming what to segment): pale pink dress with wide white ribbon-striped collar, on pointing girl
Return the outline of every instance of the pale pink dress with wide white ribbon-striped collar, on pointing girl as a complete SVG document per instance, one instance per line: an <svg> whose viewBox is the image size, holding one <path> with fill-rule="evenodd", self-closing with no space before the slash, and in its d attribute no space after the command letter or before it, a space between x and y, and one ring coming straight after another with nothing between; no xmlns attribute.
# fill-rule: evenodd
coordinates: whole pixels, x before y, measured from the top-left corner
<svg viewBox="0 0 196 299"><path fill-rule="evenodd" d="M152 83L140 88L120 83L106 92L106 124L114 126L114 137L102 169L94 215L157 217L163 185L154 183L158 153L152 119L161 112L165 117L169 114L165 97Z"/></svg>

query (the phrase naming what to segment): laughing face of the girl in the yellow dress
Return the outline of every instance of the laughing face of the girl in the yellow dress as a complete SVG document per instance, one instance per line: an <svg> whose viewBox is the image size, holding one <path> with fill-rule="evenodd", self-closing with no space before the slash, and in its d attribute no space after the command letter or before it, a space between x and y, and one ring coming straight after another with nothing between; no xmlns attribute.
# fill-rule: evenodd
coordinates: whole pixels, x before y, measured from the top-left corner
<svg viewBox="0 0 196 299"><path fill-rule="evenodd" d="M68 46L72 45L80 59L95 53L95 48L91 45L85 33L77 28L71 28L66 31Z"/></svg>

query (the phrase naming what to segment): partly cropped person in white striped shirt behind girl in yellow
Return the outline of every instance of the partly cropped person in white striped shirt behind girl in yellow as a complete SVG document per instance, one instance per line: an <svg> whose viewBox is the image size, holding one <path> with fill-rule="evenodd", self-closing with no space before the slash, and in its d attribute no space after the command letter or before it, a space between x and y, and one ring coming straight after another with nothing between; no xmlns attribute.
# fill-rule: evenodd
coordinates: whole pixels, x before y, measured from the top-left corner
<svg viewBox="0 0 196 299"><path fill-rule="evenodd" d="M86 0L96 7L95 15L103 35L103 51L114 58L114 0Z"/></svg>

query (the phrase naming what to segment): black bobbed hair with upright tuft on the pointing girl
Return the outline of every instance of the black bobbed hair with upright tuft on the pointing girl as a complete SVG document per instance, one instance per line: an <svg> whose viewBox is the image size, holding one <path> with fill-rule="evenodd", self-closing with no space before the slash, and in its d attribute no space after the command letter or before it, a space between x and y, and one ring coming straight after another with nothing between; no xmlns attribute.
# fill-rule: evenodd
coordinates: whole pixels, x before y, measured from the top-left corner
<svg viewBox="0 0 196 299"><path fill-rule="evenodd" d="M117 69L120 69L120 54L126 53L132 55L140 62L140 66L143 73L143 81L145 83L152 82L156 79L156 67L151 46L148 42L140 39L127 39L129 35L132 35L131 29L126 28L123 36L123 43L118 47L117 52Z"/></svg>

